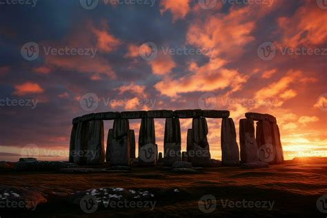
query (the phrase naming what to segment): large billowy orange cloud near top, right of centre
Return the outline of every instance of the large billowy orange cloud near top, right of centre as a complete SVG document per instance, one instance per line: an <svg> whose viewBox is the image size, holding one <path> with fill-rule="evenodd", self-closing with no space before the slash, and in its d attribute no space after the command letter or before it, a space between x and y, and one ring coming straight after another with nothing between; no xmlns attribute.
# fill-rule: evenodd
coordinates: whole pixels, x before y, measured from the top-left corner
<svg viewBox="0 0 327 218"><path fill-rule="evenodd" d="M254 40L250 34L255 21L244 17L250 7L231 9L229 14L211 14L206 19L197 19L188 27L187 43L210 50L213 57L219 54L237 56L246 43Z"/></svg>

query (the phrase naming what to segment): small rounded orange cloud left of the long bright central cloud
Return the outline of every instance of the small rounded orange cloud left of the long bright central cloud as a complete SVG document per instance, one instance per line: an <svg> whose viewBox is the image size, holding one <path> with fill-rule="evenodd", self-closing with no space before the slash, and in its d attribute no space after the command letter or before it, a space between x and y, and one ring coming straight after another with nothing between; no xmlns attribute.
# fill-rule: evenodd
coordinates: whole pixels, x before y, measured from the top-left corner
<svg viewBox="0 0 327 218"><path fill-rule="evenodd" d="M163 54L162 52L158 52L157 57L154 60L149 61L149 64L155 75L166 75L176 66L172 57L168 54Z"/></svg>

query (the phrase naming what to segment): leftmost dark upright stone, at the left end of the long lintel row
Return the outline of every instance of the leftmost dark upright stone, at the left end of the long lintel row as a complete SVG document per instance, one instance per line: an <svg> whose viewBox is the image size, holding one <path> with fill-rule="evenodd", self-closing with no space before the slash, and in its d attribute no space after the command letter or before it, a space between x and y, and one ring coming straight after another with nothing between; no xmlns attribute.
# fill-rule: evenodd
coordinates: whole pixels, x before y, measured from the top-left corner
<svg viewBox="0 0 327 218"><path fill-rule="evenodd" d="M85 165L86 164L86 150L88 149L88 126L89 122L84 121L77 124L75 135L75 154L73 154L73 163Z"/></svg>

